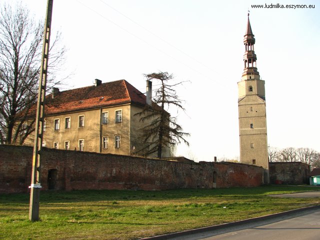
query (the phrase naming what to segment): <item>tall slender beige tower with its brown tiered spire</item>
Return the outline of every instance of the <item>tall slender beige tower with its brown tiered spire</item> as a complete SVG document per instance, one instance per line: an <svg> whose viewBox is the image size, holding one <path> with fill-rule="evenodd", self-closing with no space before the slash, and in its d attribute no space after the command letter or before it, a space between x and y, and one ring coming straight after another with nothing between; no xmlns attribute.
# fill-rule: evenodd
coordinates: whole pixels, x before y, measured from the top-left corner
<svg viewBox="0 0 320 240"><path fill-rule="evenodd" d="M240 162L268 169L264 80L256 67L249 13L243 42L244 69L238 82Z"/></svg>

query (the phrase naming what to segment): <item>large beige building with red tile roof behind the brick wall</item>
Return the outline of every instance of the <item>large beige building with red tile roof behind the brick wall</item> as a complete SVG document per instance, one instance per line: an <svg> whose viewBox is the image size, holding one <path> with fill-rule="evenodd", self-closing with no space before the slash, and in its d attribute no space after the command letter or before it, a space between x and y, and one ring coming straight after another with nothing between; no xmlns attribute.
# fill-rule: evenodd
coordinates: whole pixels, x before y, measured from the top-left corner
<svg viewBox="0 0 320 240"><path fill-rule="evenodd" d="M146 124L136 113L154 104L148 87L144 95L126 80L102 83L95 79L91 86L65 91L53 88L46 96L42 146L136 155L143 147L140 128ZM25 144L32 145L33 137ZM163 157L169 156L167 147L162 152Z"/></svg>

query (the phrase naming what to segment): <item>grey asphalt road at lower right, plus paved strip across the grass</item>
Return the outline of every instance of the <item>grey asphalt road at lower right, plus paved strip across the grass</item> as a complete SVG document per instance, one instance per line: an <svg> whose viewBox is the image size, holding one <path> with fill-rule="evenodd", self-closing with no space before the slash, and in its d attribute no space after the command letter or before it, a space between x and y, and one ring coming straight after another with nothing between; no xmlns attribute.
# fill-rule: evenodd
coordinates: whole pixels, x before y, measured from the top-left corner
<svg viewBox="0 0 320 240"><path fill-rule="evenodd" d="M272 195L274 197L320 197L320 191ZM197 228L143 239L154 240L318 240L320 207L306 207L238 222Z"/></svg>

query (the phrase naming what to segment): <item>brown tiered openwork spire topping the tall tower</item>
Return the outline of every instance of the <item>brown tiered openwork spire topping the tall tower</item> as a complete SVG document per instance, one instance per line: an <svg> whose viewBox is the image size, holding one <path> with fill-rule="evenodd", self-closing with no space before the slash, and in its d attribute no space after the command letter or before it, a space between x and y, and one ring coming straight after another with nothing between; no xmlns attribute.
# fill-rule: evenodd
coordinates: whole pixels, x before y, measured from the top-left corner
<svg viewBox="0 0 320 240"><path fill-rule="evenodd" d="M243 55L244 69L242 73L242 80L245 79L260 79L259 72L256 68L256 55L254 53L254 35L252 33L249 12L248 12L248 21L246 24L246 31L243 39L245 45L245 52Z"/></svg>

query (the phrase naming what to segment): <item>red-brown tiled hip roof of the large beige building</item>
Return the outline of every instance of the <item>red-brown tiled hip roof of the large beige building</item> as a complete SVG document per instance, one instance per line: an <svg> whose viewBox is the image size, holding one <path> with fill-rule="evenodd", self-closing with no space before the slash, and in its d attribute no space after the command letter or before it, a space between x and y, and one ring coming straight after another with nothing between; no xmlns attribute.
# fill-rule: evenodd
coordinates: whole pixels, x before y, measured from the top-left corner
<svg viewBox="0 0 320 240"><path fill-rule="evenodd" d="M46 96L45 115L124 103L146 104L146 97L126 80L60 91Z"/></svg>

